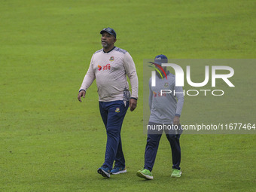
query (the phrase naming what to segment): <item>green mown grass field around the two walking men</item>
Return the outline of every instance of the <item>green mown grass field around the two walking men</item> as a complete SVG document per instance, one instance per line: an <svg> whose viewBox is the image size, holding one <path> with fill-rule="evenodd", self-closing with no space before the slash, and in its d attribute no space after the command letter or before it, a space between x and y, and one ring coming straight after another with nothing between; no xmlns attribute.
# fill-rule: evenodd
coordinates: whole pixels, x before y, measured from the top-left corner
<svg viewBox="0 0 256 192"><path fill-rule="evenodd" d="M146 144L143 59L160 53L253 59L255 9L253 0L2 1L0 191L254 191L255 135L181 136L183 175L177 179L170 178L171 151L163 136L154 180L144 181L136 171ZM133 56L140 84L139 105L123 122L127 173L110 179L96 173L106 135L95 82L86 99L77 100L106 26L116 30L117 47ZM181 123L256 123L256 67L234 69L237 94L187 98Z"/></svg>

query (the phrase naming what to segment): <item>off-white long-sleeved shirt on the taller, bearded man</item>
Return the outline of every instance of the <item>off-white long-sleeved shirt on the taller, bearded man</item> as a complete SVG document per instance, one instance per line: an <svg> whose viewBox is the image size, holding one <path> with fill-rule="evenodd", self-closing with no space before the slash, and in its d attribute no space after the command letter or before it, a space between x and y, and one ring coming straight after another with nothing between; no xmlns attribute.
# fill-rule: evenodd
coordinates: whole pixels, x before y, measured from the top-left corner
<svg viewBox="0 0 256 192"><path fill-rule="evenodd" d="M114 47L108 53L103 49L97 50L93 53L80 90L86 91L96 78L100 102L123 100L126 90L129 90L126 75L131 82L131 97L137 99L138 77L130 53L118 47Z"/></svg>

